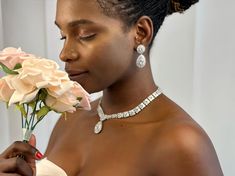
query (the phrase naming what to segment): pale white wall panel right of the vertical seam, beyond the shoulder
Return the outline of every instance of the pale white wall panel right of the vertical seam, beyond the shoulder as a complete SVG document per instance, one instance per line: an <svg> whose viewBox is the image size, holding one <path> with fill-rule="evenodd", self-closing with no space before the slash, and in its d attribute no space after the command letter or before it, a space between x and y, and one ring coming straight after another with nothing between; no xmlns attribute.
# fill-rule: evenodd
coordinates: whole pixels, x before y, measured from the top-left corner
<svg viewBox="0 0 235 176"><path fill-rule="evenodd" d="M194 115L217 149L225 175L235 175L235 1L198 6Z"/></svg>

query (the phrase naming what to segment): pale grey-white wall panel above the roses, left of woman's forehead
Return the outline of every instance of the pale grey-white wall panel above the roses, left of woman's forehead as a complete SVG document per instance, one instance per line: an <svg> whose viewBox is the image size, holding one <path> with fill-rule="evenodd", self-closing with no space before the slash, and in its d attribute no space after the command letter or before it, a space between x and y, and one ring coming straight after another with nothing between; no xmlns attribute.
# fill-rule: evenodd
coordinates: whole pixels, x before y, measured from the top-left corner
<svg viewBox="0 0 235 176"><path fill-rule="evenodd" d="M2 0L4 46L45 55L44 1Z"/></svg>

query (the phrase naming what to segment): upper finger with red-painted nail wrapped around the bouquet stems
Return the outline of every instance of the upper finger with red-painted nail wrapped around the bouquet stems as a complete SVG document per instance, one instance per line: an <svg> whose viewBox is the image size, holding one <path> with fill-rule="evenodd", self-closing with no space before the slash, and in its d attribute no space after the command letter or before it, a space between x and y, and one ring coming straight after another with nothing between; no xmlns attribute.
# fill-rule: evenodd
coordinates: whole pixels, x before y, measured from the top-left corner
<svg viewBox="0 0 235 176"><path fill-rule="evenodd" d="M43 156L35 147L31 146L30 144L16 141L1 154L1 157L8 159L16 157L17 155L23 155L26 157L26 160L30 160L32 158L41 159Z"/></svg>

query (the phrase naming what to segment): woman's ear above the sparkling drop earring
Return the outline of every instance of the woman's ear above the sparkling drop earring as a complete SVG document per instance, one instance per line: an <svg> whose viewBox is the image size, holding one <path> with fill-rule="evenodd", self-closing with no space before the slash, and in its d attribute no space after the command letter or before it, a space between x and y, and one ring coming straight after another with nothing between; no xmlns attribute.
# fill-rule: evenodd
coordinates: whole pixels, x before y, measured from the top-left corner
<svg viewBox="0 0 235 176"><path fill-rule="evenodd" d="M153 22L150 17L142 16L135 24L135 43L136 47L143 44L146 47L153 38Z"/></svg>

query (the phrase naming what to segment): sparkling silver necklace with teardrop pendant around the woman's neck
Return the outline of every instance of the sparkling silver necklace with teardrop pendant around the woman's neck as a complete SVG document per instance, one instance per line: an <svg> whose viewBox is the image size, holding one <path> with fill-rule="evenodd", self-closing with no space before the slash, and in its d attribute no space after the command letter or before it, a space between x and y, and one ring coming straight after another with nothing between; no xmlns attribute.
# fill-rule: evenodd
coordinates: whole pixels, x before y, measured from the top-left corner
<svg viewBox="0 0 235 176"><path fill-rule="evenodd" d="M95 125L94 133L98 134L102 131L103 128L103 121L108 119L123 119L128 117L133 117L136 114L138 114L140 111L142 111L145 107L147 107L155 98L157 98L161 94L161 90L158 88L156 91L154 91L152 94L150 94L147 98L144 99L138 106L135 108L125 111L125 112L119 112L116 114L110 114L107 115L104 113L103 109L101 108L101 99L99 101L97 112L98 116L100 118L99 122Z"/></svg>

